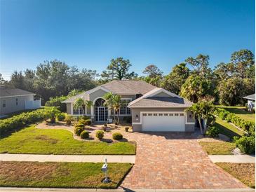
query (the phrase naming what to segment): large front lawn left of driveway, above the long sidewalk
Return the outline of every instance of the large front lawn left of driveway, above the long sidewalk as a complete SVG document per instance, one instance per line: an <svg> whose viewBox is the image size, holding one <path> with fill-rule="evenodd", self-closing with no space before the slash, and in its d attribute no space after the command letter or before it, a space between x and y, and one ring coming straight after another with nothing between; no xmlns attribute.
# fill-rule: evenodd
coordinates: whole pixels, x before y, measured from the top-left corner
<svg viewBox="0 0 256 192"><path fill-rule="evenodd" d="M0 153L133 155L133 142L83 142L68 130L36 129L34 125L0 139Z"/></svg>

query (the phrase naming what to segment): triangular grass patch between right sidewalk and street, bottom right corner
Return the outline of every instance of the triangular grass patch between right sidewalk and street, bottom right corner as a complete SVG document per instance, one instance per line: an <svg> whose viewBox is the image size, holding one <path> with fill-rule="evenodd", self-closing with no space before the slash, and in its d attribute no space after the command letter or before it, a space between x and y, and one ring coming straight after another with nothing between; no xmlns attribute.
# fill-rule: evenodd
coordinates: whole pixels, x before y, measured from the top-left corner
<svg viewBox="0 0 256 192"><path fill-rule="evenodd" d="M243 184L255 188L255 163L216 163Z"/></svg>

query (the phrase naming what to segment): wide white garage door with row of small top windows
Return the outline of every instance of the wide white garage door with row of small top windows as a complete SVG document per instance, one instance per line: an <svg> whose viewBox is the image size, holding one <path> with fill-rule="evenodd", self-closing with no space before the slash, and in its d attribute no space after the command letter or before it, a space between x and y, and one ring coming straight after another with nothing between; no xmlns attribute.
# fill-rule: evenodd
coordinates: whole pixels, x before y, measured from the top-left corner
<svg viewBox="0 0 256 192"><path fill-rule="evenodd" d="M144 112L142 131L185 131L184 113Z"/></svg>

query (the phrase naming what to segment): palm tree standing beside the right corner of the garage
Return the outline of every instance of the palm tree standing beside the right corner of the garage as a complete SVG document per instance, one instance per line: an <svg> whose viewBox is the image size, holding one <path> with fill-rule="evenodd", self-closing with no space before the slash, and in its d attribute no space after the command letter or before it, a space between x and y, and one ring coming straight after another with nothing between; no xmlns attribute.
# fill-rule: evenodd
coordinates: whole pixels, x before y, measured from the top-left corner
<svg viewBox="0 0 256 192"><path fill-rule="evenodd" d="M186 111L191 111L194 118L198 118L201 135L205 134L207 130L208 118L215 118L215 116L213 115L213 112L215 111L213 101L208 102L206 100L201 100L197 103L192 104L191 107L186 109ZM202 125L201 119L205 121L204 125Z"/></svg>

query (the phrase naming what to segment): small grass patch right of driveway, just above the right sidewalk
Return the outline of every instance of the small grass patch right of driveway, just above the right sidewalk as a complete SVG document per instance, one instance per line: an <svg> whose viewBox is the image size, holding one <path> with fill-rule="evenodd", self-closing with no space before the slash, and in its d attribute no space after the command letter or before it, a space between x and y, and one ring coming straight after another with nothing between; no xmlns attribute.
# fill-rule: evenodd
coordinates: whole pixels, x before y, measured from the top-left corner
<svg viewBox="0 0 256 192"><path fill-rule="evenodd" d="M199 142L208 155L233 155L236 144L231 142Z"/></svg>

